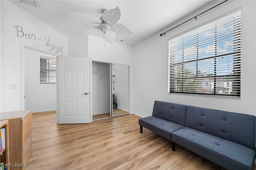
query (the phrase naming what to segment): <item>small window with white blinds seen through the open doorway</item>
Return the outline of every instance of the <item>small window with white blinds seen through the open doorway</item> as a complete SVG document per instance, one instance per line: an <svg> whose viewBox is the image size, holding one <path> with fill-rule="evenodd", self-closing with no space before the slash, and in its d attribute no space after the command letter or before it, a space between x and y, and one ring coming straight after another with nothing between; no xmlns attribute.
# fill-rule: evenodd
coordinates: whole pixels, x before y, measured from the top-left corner
<svg viewBox="0 0 256 170"><path fill-rule="evenodd" d="M56 58L40 57L40 83L56 83Z"/></svg>

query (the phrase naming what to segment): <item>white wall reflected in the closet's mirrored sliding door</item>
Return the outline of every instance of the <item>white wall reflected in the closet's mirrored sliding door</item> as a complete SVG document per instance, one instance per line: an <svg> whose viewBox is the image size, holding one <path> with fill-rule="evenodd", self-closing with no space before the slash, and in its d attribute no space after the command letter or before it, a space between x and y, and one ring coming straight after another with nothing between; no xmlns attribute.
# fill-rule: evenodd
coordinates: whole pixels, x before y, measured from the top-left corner
<svg viewBox="0 0 256 170"><path fill-rule="evenodd" d="M116 64L115 89L112 90L117 108L129 111L129 66Z"/></svg>

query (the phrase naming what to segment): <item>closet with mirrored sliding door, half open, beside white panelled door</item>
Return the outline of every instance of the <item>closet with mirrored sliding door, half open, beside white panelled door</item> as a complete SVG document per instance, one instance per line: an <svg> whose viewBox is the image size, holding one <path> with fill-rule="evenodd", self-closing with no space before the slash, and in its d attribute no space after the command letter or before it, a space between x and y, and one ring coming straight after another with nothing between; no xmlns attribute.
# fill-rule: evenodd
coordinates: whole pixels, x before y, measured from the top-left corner
<svg viewBox="0 0 256 170"><path fill-rule="evenodd" d="M129 114L129 66L92 61L92 119Z"/></svg>

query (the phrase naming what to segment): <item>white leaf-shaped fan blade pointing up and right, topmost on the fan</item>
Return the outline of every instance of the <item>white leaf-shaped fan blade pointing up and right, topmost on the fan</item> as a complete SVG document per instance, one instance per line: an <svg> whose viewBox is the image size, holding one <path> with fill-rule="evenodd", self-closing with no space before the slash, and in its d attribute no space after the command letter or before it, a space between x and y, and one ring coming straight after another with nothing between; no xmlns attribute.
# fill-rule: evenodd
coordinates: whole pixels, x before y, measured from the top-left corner
<svg viewBox="0 0 256 170"><path fill-rule="evenodd" d="M106 10L102 13L102 18L106 23L112 25L120 20L121 11L118 7L111 10Z"/></svg>

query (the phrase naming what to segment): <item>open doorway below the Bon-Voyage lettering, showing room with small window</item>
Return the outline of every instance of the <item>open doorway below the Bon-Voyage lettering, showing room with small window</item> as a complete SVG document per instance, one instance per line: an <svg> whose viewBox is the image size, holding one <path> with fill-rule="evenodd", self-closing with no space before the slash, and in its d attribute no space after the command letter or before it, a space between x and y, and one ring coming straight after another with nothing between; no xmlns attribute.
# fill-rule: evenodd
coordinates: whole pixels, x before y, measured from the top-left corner
<svg viewBox="0 0 256 170"><path fill-rule="evenodd" d="M56 93L56 56L24 47L24 109L56 110Z"/></svg>

